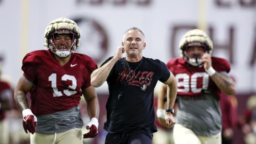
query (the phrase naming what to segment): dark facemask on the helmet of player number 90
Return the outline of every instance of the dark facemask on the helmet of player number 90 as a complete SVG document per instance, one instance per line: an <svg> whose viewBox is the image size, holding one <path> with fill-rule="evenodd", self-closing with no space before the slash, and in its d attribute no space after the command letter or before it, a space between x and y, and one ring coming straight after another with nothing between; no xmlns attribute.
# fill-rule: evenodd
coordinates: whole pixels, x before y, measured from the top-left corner
<svg viewBox="0 0 256 144"><path fill-rule="evenodd" d="M191 47L193 46L197 46L197 47L201 47L202 50L197 50L197 52L194 52L193 50L189 50L191 49ZM206 46L204 44L201 43L189 43L184 47L184 59L187 60L187 62L189 64L191 64L192 66L198 66L200 64L202 64L202 55L203 53L206 53Z"/></svg>

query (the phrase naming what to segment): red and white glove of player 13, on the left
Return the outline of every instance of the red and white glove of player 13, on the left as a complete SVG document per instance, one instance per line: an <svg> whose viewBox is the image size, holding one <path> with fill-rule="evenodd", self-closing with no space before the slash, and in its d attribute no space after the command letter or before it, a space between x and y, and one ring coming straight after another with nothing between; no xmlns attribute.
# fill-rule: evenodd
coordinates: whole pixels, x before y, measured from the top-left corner
<svg viewBox="0 0 256 144"><path fill-rule="evenodd" d="M30 109L25 109L22 111L22 117L23 117L23 128L25 132L28 132L34 134L36 132L36 126L37 126L37 118L36 116L32 113Z"/></svg>

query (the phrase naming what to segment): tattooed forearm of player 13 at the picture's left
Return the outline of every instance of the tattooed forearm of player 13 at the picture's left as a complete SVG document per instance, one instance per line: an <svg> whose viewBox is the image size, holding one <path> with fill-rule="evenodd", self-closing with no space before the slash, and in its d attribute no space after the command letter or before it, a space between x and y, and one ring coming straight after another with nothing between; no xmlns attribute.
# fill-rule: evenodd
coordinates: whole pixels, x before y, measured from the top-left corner
<svg viewBox="0 0 256 144"><path fill-rule="evenodd" d="M17 91L14 93L14 100L17 108L22 112L23 110L29 108L28 100L24 92Z"/></svg>

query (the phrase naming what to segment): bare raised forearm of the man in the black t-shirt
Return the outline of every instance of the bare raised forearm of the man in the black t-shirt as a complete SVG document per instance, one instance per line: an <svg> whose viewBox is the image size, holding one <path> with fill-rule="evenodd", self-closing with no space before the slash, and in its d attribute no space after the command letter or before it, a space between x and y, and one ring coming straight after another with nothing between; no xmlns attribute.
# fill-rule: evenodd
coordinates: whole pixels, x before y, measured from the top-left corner
<svg viewBox="0 0 256 144"><path fill-rule="evenodd" d="M107 80L107 77L117 60L118 59L113 57L105 65L93 71L91 74L91 85L94 87L101 86Z"/></svg>

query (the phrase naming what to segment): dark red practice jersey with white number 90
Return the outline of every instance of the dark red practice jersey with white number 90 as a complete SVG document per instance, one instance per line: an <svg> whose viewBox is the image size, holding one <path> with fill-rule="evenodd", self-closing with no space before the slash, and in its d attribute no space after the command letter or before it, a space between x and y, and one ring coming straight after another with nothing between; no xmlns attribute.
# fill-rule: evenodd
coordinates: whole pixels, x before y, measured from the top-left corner
<svg viewBox="0 0 256 144"><path fill-rule="evenodd" d="M177 95L198 96L203 95L204 91L211 92L218 98L220 97L220 89L206 73L203 64L192 66L183 58L174 58L166 65L177 80ZM228 61L222 58L212 57L212 67L217 72L226 71L229 73L230 71Z"/></svg>

